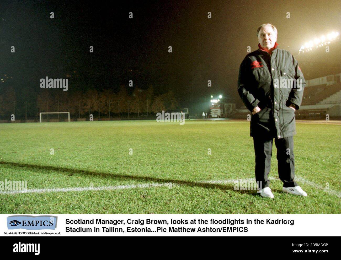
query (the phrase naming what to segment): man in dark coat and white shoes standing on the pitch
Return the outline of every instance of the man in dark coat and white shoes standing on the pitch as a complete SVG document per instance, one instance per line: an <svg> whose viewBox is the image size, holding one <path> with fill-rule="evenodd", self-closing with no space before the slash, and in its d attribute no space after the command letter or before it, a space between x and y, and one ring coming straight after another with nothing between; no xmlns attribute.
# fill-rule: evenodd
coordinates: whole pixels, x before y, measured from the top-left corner
<svg viewBox="0 0 341 260"><path fill-rule="evenodd" d="M277 29L263 24L257 30L258 50L239 68L238 93L252 112L250 136L255 151L255 175L262 197L273 198L269 187L272 141L277 147L278 174L283 192L307 196L295 182L295 110L301 105L305 80L297 60L278 48Z"/></svg>

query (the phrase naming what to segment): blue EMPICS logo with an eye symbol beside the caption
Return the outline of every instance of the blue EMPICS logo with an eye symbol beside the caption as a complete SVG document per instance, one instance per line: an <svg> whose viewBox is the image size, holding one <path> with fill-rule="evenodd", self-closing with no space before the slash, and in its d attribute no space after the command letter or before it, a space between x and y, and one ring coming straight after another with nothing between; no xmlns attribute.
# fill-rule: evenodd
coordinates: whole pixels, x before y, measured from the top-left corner
<svg viewBox="0 0 341 260"><path fill-rule="evenodd" d="M55 216L11 216L7 218L8 229L56 229L57 217Z"/></svg>

